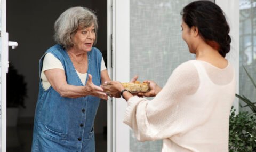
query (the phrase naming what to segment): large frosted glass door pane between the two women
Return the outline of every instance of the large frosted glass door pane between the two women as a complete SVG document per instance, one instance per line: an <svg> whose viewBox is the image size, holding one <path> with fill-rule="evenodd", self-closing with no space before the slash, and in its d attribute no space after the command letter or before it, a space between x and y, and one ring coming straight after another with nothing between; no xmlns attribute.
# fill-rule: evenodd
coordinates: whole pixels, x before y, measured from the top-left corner
<svg viewBox="0 0 256 152"><path fill-rule="evenodd" d="M164 86L174 68L194 59L181 37L182 8L191 0L130 0L130 78ZM161 151L162 141L138 142L130 130L130 151Z"/></svg>

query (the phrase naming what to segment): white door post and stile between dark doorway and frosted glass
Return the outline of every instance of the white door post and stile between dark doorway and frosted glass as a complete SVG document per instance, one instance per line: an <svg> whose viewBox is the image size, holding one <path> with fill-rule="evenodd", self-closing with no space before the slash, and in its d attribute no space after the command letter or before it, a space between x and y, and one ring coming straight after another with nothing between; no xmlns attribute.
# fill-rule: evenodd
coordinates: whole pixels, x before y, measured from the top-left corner
<svg viewBox="0 0 256 152"><path fill-rule="evenodd" d="M129 82L130 1L107 1L108 72L113 80ZM122 98L108 100L108 152L129 151L129 127L123 123L126 107Z"/></svg>

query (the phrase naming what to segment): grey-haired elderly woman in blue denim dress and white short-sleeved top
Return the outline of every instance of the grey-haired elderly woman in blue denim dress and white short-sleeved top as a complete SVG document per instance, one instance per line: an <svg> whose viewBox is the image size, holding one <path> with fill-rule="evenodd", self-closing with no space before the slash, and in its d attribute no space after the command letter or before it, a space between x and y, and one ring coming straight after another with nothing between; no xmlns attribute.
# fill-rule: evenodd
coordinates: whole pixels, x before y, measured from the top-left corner
<svg viewBox="0 0 256 152"><path fill-rule="evenodd" d="M39 61L32 151L95 151L93 123L99 87L110 81L97 41L97 17L71 7L54 25L55 41Z"/></svg>

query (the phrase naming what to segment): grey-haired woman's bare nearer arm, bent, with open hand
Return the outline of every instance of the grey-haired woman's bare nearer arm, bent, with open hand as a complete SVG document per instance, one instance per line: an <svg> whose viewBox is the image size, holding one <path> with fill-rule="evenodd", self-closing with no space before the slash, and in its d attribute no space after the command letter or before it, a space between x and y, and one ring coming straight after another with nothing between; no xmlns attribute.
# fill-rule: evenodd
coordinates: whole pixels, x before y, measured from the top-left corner
<svg viewBox="0 0 256 152"><path fill-rule="evenodd" d="M53 89L62 97L78 98L93 95L105 100L108 99L106 93L102 92L103 89L92 83L92 76L90 74L85 86L74 86L67 84L66 75L62 69L49 69L45 70L44 73Z"/></svg>

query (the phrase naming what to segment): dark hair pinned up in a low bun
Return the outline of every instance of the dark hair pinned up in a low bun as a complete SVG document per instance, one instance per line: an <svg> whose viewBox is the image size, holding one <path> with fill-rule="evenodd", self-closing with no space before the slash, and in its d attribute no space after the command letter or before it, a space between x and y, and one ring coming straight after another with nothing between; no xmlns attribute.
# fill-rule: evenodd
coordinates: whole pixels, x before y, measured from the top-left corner
<svg viewBox="0 0 256 152"><path fill-rule="evenodd" d="M198 28L204 41L218 50L222 57L230 51L229 25L221 8L211 1L195 1L181 12L189 28Z"/></svg>

